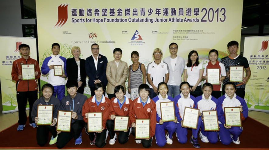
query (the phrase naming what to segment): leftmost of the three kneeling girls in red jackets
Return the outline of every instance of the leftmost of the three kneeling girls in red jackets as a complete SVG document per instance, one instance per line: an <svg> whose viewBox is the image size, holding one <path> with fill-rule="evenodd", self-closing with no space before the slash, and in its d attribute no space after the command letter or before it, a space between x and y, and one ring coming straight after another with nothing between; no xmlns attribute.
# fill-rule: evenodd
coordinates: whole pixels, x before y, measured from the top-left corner
<svg viewBox="0 0 269 150"><path fill-rule="evenodd" d="M103 95L104 93L104 86L102 83L96 83L94 86L94 93L95 95L88 98L82 107L82 116L85 125L85 131L89 135L91 140L91 145L96 145L97 147L101 148L106 145L108 131L106 129L106 122L110 112L110 104L111 101L107 97ZM88 112L103 112L102 113L102 131L99 132L89 132L88 133Z"/></svg>

